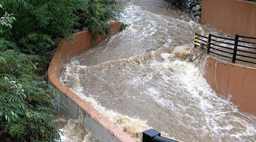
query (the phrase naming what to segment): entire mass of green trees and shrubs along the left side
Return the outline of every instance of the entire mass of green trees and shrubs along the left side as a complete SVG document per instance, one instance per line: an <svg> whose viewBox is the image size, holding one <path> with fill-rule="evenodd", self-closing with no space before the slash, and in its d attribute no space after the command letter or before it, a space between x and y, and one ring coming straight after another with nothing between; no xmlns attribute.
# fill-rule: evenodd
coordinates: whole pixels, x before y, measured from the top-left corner
<svg viewBox="0 0 256 142"><path fill-rule="evenodd" d="M108 34L123 10L115 0L0 1L0 141L59 139L52 108L60 102L39 76L44 52L82 29L94 40Z"/></svg>

